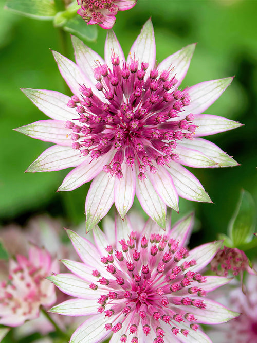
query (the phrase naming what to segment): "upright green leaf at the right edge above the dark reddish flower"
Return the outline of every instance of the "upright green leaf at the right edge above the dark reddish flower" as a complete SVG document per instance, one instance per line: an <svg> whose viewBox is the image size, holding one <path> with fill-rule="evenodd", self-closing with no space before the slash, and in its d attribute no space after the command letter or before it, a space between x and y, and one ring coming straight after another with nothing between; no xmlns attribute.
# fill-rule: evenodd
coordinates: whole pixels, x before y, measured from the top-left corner
<svg viewBox="0 0 257 343"><path fill-rule="evenodd" d="M242 190L240 200L228 226L233 246L249 243L255 229L255 204L251 194Z"/></svg>

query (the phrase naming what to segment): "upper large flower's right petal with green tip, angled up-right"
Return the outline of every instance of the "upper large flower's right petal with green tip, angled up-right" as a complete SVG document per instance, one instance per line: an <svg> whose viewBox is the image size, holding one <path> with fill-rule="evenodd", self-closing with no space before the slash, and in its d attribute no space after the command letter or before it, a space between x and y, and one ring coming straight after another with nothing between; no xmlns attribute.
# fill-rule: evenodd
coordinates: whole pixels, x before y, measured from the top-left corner
<svg viewBox="0 0 257 343"><path fill-rule="evenodd" d="M187 88L191 100L189 106L185 107L183 115L199 114L207 110L222 95L232 80L233 78L230 77L205 81Z"/></svg>

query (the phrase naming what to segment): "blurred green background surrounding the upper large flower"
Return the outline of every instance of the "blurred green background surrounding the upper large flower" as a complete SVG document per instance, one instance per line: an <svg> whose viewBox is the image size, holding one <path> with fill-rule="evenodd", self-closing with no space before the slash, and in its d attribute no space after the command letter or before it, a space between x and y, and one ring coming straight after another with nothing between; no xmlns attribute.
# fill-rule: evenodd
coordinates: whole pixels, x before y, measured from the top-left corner
<svg viewBox="0 0 257 343"><path fill-rule="evenodd" d="M15 0L14 0L15 1ZM60 32L51 21L36 21L0 11L0 226L25 225L31 216L48 213L63 218L66 226L85 220L84 202L89 185L56 193L68 170L24 173L49 145L12 131L46 119L20 88L54 89L68 94L50 49L74 59L69 34L64 48ZM257 1L256 0L138 0L131 10L119 12L114 31L128 53L143 23L152 17L161 61L190 43L196 51L182 86L235 75L232 85L208 110L210 114L240 121L245 126L210 136L241 166L192 170L214 204L192 203L180 198L180 212L194 210L197 232L192 245L226 233L242 188L255 203L257 142ZM103 56L106 31L98 28L96 41L85 42ZM137 202L134 205L137 206ZM113 210L111 210L113 211ZM254 249L248 254L253 257Z"/></svg>

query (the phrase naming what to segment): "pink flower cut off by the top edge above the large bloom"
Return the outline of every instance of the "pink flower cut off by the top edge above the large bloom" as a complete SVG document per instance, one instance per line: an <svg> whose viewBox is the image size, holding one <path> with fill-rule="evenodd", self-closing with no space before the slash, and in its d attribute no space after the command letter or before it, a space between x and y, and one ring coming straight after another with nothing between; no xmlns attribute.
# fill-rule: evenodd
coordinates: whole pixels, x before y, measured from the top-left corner
<svg viewBox="0 0 257 343"><path fill-rule="evenodd" d="M78 14L88 24L99 24L103 29L111 29L118 11L130 10L137 0L77 0L81 8Z"/></svg>

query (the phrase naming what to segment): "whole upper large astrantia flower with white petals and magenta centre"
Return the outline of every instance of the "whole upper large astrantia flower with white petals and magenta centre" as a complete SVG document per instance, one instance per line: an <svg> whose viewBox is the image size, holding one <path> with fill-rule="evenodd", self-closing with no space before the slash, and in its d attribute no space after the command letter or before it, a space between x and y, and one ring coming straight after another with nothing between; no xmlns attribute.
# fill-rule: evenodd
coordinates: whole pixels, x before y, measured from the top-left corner
<svg viewBox="0 0 257 343"><path fill-rule="evenodd" d="M134 196L161 227L166 206L178 211L178 195L211 202L198 179L182 165L215 168L237 165L201 136L241 124L201 114L224 92L232 78L178 89L195 44L156 66L151 21L146 22L127 61L113 31L107 34L105 61L73 37L76 62L54 52L59 69L74 95L24 89L52 120L16 129L56 143L27 171L76 167L59 190L73 190L92 180L86 198L90 230L115 203L124 218Z"/></svg>

